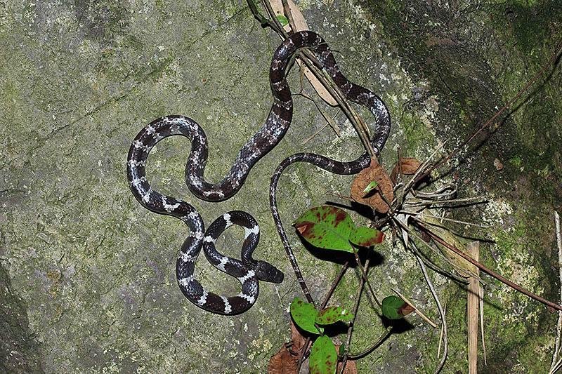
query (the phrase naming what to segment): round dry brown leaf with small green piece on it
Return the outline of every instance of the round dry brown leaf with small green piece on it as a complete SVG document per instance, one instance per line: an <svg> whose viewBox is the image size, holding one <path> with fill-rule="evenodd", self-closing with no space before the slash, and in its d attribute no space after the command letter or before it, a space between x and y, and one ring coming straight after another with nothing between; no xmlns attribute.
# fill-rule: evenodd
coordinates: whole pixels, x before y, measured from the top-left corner
<svg viewBox="0 0 562 374"><path fill-rule="evenodd" d="M370 182L377 182L377 192L363 192ZM388 174L376 158L371 159L371 165L363 169L351 184L351 199L374 208L379 213L388 212L388 204L382 199L380 191L387 201L394 199L393 183Z"/></svg>

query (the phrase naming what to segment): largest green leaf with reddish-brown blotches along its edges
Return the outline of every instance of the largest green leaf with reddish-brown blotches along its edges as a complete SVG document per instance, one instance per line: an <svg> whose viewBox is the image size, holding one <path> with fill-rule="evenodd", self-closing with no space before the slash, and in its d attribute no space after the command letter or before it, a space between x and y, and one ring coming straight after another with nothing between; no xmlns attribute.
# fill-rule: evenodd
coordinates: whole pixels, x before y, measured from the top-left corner
<svg viewBox="0 0 562 374"><path fill-rule="evenodd" d="M304 240L323 249L353 253L349 234L355 229L351 217L335 206L309 209L293 224Z"/></svg>

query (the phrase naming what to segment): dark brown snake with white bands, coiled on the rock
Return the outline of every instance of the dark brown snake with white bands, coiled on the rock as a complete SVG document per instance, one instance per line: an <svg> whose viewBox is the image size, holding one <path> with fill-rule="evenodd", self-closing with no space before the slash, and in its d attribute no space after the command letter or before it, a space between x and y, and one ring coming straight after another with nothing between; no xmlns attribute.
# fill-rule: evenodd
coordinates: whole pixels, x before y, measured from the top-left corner
<svg viewBox="0 0 562 374"><path fill-rule="evenodd" d="M225 213L211 223L206 231L202 216L194 206L152 189L146 176L148 155L164 138L174 135L188 138L191 142L191 149L185 164L185 183L192 194L203 201L230 199L240 190L251 168L287 133L292 121L293 102L285 74L292 64L292 57L296 51L304 47L311 48L322 69L332 77L346 99L367 107L374 115L376 126L371 144L375 153L378 154L386 142L391 128L386 105L376 94L348 81L340 72L334 55L324 39L311 31L295 32L285 39L273 53L269 69L273 105L266 122L242 146L230 171L220 182L213 184L204 180L204 169L209 152L207 136L201 126L187 116L174 115L155 119L148 123L131 142L126 168L131 192L138 203L149 211L178 218L188 226L190 232L176 258L176 279L185 298L208 312L226 315L245 312L256 302L259 294L259 281L280 283L284 279L284 274L270 263L252 258L259 241L259 225L249 213L242 211ZM332 173L353 174L365 168L369 164L369 160L370 157L365 153L355 161L349 162L336 161L316 154L295 154L283 161L273 175L270 202L277 229L286 249L287 237L285 235L285 239L283 239L284 231L275 206L275 187L282 171L291 163L304 161ZM240 260L222 255L215 246L221 234L233 225L244 228L244 243L242 243ZM200 281L195 279L195 262L202 250L214 267L240 282L242 288L240 293L233 296L218 295L205 289ZM294 261L294 256L292 257L289 256L289 260L295 268L296 261Z"/></svg>

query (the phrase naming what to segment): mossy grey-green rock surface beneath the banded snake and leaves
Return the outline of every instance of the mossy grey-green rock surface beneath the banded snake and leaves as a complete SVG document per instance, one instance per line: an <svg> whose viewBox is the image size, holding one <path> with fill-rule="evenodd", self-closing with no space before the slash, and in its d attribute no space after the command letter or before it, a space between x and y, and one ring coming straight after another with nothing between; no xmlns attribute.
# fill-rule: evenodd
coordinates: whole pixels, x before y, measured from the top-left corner
<svg viewBox="0 0 562 374"><path fill-rule="evenodd" d="M551 1L300 1L349 79L379 93L393 117L381 163L401 154L424 159L447 140L451 150L524 86L561 38L562 10ZM0 371L8 373L262 373L289 337L287 307L299 295L268 208L268 184L288 154L316 151L351 159L361 146L339 116L342 136L314 105L295 99L285 140L259 162L229 201L202 203L183 185L187 143L171 139L151 154L152 185L200 207L211 222L243 209L260 222L256 258L285 271L280 286L261 283L249 312L207 314L176 285L176 251L185 225L145 211L126 183L136 133L159 116L184 114L210 141L207 178L219 180L237 149L261 126L271 95L270 56L279 40L244 1L15 1L0 3ZM485 265L551 300L559 298L554 209L561 210L562 78L549 69L511 116L478 140L444 178L487 206L454 211L485 222L466 231L495 241ZM299 75L289 81L294 91ZM334 109L327 109L334 114ZM366 117L367 118L367 117ZM369 121L370 119L367 119ZM503 168L495 168L495 160ZM452 173L445 173L452 171ZM302 211L348 194L350 178L293 166L282 178L280 211L289 226ZM358 216L355 216L358 220ZM464 230L464 227L455 227ZM290 231L290 230L289 230ZM303 273L320 299L339 265L303 250ZM236 255L241 230L220 244ZM226 243L235 243L226 248ZM377 248L379 249L379 248ZM416 262L387 240L372 272L383 295L402 290L438 321ZM201 258L197 276L225 293L237 284ZM466 370L464 290L435 275L447 304L449 359ZM556 314L486 278L485 334L492 373L545 372ZM352 305L348 272L334 302ZM410 319L367 358L364 373L433 371L439 331ZM382 331L364 298L352 351ZM481 359L481 361L483 361ZM482 362L481 362L482 364Z"/></svg>

